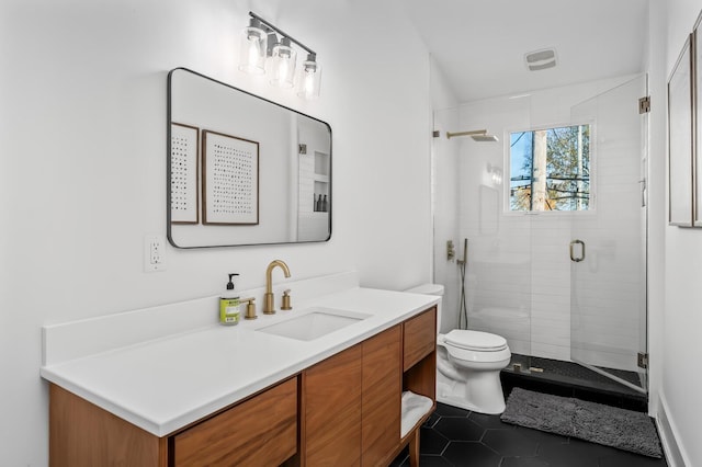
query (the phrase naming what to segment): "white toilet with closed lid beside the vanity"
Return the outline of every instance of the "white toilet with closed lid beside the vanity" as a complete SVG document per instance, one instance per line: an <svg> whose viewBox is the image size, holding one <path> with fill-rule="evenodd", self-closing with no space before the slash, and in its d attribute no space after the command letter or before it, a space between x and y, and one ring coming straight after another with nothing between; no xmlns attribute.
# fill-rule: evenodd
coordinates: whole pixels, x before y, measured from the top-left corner
<svg viewBox="0 0 702 467"><path fill-rule="evenodd" d="M443 285L424 284L406 292L443 296ZM507 340L489 332L441 330L441 304L437 312L437 400L479 413L502 413L505 396L500 371L509 365Z"/></svg>

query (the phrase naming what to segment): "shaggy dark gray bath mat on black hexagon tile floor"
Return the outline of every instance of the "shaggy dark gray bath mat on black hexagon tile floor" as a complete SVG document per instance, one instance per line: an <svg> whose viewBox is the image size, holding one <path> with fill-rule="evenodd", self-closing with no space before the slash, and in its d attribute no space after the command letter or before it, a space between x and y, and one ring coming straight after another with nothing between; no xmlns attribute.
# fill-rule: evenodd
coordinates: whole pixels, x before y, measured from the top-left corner
<svg viewBox="0 0 702 467"><path fill-rule="evenodd" d="M645 456L663 457L653 419L642 412L514 388L500 419Z"/></svg>

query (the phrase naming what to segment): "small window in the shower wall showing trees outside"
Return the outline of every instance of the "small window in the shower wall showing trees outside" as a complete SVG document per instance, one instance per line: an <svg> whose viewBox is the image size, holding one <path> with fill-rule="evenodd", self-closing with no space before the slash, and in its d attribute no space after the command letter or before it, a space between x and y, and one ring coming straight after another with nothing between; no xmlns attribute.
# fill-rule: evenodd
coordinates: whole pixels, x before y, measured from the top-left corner
<svg viewBox="0 0 702 467"><path fill-rule="evenodd" d="M588 210L590 125L510 133L510 210Z"/></svg>

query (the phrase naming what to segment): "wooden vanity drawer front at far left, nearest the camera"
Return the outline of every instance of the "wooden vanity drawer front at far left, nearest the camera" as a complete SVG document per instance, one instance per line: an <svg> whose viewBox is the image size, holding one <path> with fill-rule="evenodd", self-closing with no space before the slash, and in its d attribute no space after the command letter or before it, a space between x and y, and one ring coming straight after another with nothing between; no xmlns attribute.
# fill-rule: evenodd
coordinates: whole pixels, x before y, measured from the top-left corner
<svg viewBox="0 0 702 467"><path fill-rule="evenodd" d="M297 452L297 378L288 379L180 434L174 465L280 465Z"/></svg>

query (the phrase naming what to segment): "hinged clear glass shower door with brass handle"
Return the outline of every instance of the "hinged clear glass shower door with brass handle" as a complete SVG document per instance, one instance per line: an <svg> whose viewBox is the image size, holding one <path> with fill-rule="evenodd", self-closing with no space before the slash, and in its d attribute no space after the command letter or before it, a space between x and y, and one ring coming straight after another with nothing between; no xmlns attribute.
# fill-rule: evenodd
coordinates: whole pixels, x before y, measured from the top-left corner
<svg viewBox="0 0 702 467"><path fill-rule="evenodd" d="M596 215L574 218L570 358L632 389L647 388L646 95L641 76L575 105L597 123ZM579 255L578 255L579 254Z"/></svg>

